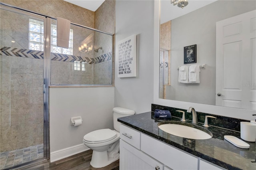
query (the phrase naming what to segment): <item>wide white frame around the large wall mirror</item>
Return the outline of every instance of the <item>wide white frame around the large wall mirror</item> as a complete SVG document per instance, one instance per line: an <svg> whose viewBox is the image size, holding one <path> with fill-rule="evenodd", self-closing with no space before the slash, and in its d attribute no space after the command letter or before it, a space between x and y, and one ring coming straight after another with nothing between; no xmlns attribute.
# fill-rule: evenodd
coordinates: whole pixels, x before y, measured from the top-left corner
<svg viewBox="0 0 256 170"><path fill-rule="evenodd" d="M221 115L225 117L233 117L237 119L254 120L252 114L256 114L254 110L238 109L232 107L223 107L215 105L205 105L199 103L189 103L183 101L174 101L167 99L159 99L159 53L160 53L160 0L154 1L154 104L180 109L188 109L194 107L196 111Z"/></svg>

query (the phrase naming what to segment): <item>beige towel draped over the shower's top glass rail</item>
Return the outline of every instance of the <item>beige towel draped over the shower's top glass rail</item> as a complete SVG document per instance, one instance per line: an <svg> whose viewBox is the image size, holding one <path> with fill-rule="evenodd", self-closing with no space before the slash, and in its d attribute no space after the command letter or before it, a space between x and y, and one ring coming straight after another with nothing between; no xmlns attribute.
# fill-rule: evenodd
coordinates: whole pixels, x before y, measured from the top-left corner
<svg viewBox="0 0 256 170"><path fill-rule="evenodd" d="M57 46L68 48L70 21L57 17Z"/></svg>

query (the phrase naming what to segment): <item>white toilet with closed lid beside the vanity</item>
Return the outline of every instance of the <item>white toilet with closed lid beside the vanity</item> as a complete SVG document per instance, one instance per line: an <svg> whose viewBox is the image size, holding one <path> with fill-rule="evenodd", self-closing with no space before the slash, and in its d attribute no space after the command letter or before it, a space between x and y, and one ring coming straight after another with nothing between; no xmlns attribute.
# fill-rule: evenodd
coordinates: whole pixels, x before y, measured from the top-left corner
<svg viewBox="0 0 256 170"><path fill-rule="evenodd" d="M134 115L135 112L122 107L113 108L114 129L109 128L92 131L84 135L84 144L93 150L90 164L94 168L102 168L119 159L119 117Z"/></svg>

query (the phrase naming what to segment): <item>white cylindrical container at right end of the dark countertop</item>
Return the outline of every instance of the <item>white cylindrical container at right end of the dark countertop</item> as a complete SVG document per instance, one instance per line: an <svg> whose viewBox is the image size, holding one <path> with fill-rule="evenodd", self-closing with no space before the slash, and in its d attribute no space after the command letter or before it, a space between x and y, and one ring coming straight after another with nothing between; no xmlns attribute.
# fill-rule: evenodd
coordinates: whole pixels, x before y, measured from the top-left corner
<svg viewBox="0 0 256 170"><path fill-rule="evenodd" d="M240 137L248 142L255 142L256 124L250 122L240 122Z"/></svg>

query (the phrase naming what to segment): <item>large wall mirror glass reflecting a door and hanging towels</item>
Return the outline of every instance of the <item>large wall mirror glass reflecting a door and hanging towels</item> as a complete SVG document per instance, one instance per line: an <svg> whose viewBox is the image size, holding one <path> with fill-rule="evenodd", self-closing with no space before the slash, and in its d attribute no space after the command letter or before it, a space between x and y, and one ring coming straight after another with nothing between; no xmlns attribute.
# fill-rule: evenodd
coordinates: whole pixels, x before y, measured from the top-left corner
<svg viewBox="0 0 256 170"><path fill-rule="evenodd" d="M256 1L160 2L159 99L256 110ZM184 47L196 44L196 63ZM178 68L200 68L200 83L179 83Z"/></svg>

